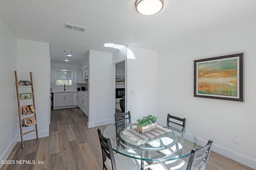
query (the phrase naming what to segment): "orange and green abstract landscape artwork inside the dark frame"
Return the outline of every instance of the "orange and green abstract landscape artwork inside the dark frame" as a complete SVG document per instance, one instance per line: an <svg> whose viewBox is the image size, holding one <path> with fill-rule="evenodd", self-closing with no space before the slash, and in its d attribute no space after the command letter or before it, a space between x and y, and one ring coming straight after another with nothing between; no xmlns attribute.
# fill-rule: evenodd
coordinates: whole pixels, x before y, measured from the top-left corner
<svg viewBox="0 0 256 170"><path fill-rule="evenodd" d="M198 63L197 94L238 97L238 62L238 58L233 57Z"/></svg>

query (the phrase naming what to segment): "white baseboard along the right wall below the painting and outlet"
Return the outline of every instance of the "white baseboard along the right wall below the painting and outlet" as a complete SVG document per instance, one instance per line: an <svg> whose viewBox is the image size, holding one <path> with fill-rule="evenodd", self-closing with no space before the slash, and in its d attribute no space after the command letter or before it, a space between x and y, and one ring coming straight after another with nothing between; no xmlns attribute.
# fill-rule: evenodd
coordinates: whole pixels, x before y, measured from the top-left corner
<svg viewBox="0 0 256 170"><path fill-rule="evenodd" d="M202 139L198 139L198 145L204 146L206 145L208 141L204 141ZM232 160L235 160L236 162L240 162L241 164L244 164L246 166L249 166L250 168L256 169L256 160L253 160L252 158L248 158L247 156L238 154L232 150L228 150L226 148L223 148L218 145L214 145L214 142L212 144L212 151L221 154L227 158L230 158Z"/></svg>

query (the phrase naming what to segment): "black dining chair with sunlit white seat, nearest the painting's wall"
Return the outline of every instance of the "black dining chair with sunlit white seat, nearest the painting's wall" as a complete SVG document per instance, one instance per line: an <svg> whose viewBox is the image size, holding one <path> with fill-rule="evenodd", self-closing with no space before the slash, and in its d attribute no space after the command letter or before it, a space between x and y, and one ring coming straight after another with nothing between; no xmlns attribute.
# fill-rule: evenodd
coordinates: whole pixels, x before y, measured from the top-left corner
<svg viewBox="0 0 256 170"><path fill-rule="evenodd" d="M177 126L170 126L170 123L177 125ZM183 142L184 142L184 127L186 126L186 118L180 118L176 116L172 116L170 114L167 115L166 127L172 129L178 133L180 133L180 143L178 145L174 145L168 149L159 150L164 155L170 155L177 152L178 155L181 155L183 149ZM169 137L160 137L153 141L150 141L148 144L152 147L159 147L160 145L168 145L173 142L173 139Z"/></svg>

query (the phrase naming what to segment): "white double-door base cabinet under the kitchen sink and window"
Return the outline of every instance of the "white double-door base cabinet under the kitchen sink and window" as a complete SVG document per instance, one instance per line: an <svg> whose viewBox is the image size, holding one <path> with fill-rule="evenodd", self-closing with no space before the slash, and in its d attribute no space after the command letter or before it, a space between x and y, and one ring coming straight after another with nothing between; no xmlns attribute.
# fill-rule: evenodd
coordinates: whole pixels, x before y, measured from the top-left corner
<svg viewBox="0 0 256 170"><path fill-rule="evenodd" d="M73 92L56 93L56 107L72 106Z"/></svg>

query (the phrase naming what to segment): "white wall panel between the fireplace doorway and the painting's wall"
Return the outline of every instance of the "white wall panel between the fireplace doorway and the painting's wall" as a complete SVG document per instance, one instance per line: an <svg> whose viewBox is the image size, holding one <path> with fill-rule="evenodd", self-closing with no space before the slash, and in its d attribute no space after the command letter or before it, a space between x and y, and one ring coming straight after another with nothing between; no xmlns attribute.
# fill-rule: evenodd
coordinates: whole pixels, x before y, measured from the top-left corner
<svg viewBox="0 0 256 170"><path fill-rule="evenodd" d="M127 46L127 111L131 117L156 115L156 51ZM132 91L133 90L133 94Z"/></svg>

